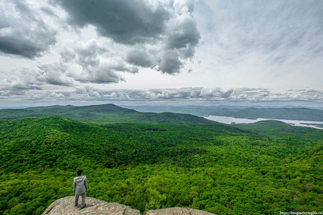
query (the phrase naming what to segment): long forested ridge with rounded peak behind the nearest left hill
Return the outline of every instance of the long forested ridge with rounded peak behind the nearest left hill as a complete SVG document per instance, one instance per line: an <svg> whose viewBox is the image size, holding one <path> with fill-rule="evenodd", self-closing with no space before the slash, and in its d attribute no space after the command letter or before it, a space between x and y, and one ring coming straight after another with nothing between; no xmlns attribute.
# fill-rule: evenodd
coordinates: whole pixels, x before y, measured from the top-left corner
<svg viewBox="0 0 323 215"><path fill-rule="evenodd" d="M80 122L144 122L144 123L206 123L214 124L211 120L190 114L138 112L122 108L114 104L101 104L76 107L72 105L49 107L33 107L26 109L1 109L0 119L19 119L23 117L64 116Z"/></svg>

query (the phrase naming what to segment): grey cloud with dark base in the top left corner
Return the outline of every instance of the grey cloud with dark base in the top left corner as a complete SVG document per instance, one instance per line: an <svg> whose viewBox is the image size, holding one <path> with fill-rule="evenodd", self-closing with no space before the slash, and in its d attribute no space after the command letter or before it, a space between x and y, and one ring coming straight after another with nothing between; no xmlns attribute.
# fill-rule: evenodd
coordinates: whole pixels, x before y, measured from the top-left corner
<svg viewBox="0 0 323 215"><path fill-rule="evenodd" d="M0 8L0 52L34 58L56 43L56 30L23 1L6 2Z"/></svg>

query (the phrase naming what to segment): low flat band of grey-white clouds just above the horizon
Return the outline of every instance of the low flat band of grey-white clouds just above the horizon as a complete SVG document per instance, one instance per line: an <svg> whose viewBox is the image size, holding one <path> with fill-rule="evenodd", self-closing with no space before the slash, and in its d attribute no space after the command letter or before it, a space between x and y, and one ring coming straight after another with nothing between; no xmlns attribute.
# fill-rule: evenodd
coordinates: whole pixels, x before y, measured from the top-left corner
<svg viewBox="0 0 323 215"><path fill-rule="evenodd" d="M6 80L8 82L8 80ZM9 82L2 82L9 86ZM27 86L27 87L26 87ZM28 88L28 89L26 89ZM126 103L126 104L264 104L264 103L297 103L323 105L323 91L293 90L286 92L275 92L263 88L165 88L165 89L100 89L91 85L77 85L66 90L50 91L40 90L39 86L18 86L12 83L12 87L0 89L2 99L17 101L24 98L33 103L47 103L60 101L64 103Z"/></svg>

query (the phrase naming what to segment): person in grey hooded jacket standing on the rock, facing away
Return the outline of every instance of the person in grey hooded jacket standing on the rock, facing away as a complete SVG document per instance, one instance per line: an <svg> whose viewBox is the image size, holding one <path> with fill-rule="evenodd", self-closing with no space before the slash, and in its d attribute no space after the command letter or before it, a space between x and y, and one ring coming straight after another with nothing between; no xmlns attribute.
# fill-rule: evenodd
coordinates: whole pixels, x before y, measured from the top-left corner
<svg viewBox="0 0 323 215"><path fill-rule="evenodd" d="M75 177L73 180L73 191L75 192L75 202L74 206L78 206L78 197L81 194L82 204L81 209L85 208L85 197L86 190L88 189L88 181L86 180L86 176L82 176L82 170L77 171L78 177Z"/></svg>

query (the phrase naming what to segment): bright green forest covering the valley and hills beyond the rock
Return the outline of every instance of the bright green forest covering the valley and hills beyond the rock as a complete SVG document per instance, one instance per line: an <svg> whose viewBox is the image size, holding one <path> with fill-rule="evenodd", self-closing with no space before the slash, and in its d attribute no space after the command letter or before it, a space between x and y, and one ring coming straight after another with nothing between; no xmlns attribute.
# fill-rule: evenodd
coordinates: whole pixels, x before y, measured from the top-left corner
<svg viewBox="0 0 323 215"><path fill-rule="evenodd" d="M74 117L18 110L10 117L20 119L0 120L0 215L40 215L74 195L77 169L87 176L87 196L142 214L168 207L218 215L323 211L323 130L98 106Z"/></svg>

